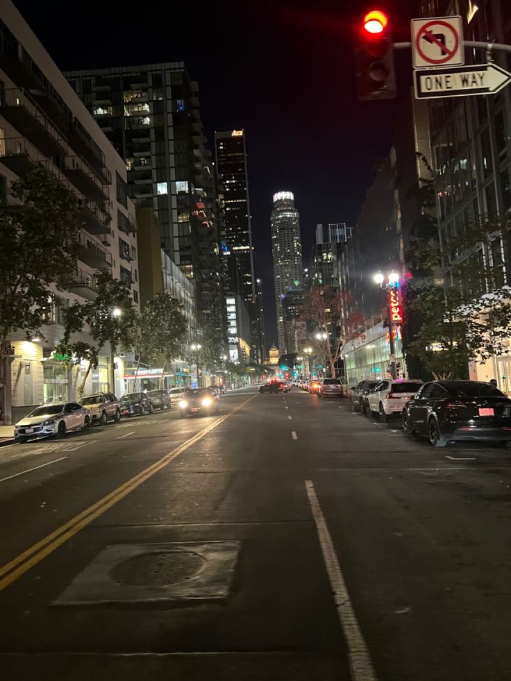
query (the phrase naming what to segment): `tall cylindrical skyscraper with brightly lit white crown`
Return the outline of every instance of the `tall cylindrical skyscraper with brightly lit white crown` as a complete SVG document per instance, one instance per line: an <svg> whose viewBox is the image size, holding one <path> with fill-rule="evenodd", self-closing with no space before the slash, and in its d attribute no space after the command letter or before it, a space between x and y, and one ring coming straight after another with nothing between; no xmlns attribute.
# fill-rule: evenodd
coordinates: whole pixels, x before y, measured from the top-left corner
<svg viewBox="0 0 511 681"><path fill-rule="evenodd" d="M286 294L302 289L300 217L292 192L274 194L271 211L271 250L274 260L275 307L280 354L287 352L282 301Z"/></svg>

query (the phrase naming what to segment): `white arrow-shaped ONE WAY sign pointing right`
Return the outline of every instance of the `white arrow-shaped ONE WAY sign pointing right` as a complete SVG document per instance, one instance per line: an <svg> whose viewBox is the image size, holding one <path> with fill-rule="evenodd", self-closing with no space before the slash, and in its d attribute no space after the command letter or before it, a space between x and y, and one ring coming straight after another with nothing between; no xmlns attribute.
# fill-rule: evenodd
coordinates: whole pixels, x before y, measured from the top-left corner
<svg viewBox="0 0 511 681"><path fill-rule="evenodd" d="M413 86L415 99L467 97L496 94L511 81L511 74L496 64L476 64L451 69L417 69Z"/></svg>

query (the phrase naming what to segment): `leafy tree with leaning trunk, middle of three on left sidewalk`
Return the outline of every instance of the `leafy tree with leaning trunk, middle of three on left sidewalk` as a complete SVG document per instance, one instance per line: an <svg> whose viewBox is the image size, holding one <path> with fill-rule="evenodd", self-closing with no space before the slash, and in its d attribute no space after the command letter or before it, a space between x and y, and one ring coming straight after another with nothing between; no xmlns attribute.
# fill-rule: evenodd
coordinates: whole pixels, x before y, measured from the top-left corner
<svg viewBox="0 0 511 681"><path fill-rule="evenodd" d="M112 353L116 348L130 351L135 342L135 308L128 285L112 277L110 272L99 271L96 276L97 298L86 303L75 302L65 310L65 333L58 351L72 357L76 364L87 360L87 371L78 395L83 394L90 370L97 367L99 354L106 344ZM119 314L115 314L116 311ZM87 329L92 343L74 340L73 335ZM113 389L113 388L112 388Z"/></svg>

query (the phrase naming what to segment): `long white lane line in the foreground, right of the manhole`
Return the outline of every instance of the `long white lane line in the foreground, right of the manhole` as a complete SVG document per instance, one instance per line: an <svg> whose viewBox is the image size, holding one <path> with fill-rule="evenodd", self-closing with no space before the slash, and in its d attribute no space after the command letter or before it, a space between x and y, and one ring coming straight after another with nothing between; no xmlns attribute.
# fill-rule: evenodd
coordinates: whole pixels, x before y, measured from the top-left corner
<svg viewBox="0 0 511 681"><path fill-rule="evenodd" d="M341 571L339 560L333 546L332 537L326 525L325 516L319 505L316 490L312 480L305 480L305 489L309 499L310 510L314 517L319 544L323 553L323 559L328 573L328 580L333 591L333 600L337 609L337 616L341 623L342 632L348 646L349 666L353 681L377 681L371 655L360 630L360 625L351 605L344 575Z"/></svg>

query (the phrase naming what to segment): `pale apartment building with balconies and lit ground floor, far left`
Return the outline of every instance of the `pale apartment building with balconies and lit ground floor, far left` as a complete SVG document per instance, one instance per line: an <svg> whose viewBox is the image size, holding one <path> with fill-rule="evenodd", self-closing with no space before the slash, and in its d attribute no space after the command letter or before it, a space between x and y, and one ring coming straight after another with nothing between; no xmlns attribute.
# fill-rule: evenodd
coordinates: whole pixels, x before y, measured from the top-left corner
<svg viewBox="0 0 511 681"><path fill-rule="evenodd" d="M29 342L13 333L1 364L0 412L16 419L43 401L76 399L85 372L55 353L62 337L62 310L73 301L94 300L95 273L106 270L131 287L139 305L135 207L128 198L126 164L67 82L15 6L0 8L0 192L12 203L10 185L37 167L56 176L78 200L82 221L78 269L69 291L53 291L53 313L44 339ZM83 331L87 339L87 331ZM124 392L124 362L102 348L86 392Z"/></svg>

